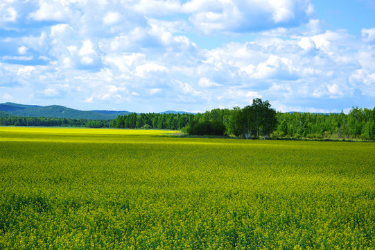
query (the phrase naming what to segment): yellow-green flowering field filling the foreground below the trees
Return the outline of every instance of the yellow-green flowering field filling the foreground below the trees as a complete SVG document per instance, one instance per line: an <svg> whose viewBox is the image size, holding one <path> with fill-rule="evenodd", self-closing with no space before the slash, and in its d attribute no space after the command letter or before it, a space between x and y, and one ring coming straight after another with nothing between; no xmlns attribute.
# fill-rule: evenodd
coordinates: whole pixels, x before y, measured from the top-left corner
<svg viewBox="0 0 375 250"><path fill-rule="evenodd" d="M375 249L375 144L0 128L0 249Z"/></svg>

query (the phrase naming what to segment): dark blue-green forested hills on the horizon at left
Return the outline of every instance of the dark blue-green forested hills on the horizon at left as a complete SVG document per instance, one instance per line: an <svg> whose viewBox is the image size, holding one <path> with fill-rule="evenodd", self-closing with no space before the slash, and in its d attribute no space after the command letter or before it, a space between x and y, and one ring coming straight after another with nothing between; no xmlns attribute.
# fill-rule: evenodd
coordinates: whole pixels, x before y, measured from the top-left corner
<svg viewBox="0 0 375 250"><path fill-rule="evenodd" d="M70 119L116 119L119 115L127 115L128 111L82 111L64 106L33 106L18 103L0 103L0 111L21 117L53 117ZM1 114L2 116L4 114Z"/></svg>

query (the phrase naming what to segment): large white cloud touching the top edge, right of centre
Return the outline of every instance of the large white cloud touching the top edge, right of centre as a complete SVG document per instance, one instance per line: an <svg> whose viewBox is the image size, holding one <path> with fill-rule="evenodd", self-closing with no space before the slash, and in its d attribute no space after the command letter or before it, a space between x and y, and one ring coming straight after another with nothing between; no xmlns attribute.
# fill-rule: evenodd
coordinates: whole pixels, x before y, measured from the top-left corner
<svg viewBox="0 0 375 250"><path fill-rule="evenodd" d="M192 0L183 8L191 13L190 22L206 34L299 26L315 14L311 3L304 0Z"/></svg>

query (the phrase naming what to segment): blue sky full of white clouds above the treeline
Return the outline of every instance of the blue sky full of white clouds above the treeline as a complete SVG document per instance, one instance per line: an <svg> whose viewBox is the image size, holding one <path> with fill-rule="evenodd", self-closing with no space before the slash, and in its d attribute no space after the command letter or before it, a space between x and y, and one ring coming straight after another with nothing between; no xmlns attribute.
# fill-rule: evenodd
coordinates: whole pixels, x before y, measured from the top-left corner
<svg viewBox="0 0 375 250"><path fill-rule="evenodd" d="M0 0L0 103L375 106L375 0Z"/></svg>

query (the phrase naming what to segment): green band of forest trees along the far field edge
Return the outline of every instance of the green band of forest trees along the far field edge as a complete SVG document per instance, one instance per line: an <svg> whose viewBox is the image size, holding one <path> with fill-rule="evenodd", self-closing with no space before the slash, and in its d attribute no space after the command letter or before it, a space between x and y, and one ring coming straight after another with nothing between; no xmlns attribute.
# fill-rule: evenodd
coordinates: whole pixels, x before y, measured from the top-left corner
<svg viewBox="0 0 375 250"><path fill-rule="evenodd" d="M251 106L213 109L198 114L131 113L116 119L67 119L49 117L1 117L0 126L64 126L86 128L158 128L182 130L189 134L194 126L223 128L223 135L246 139L331 139L375 140L375 108L352 108L345 113L280 113L268 101L254 99ZM204 127L204 124L198 126ZM196 129L195 129L196 130ZM202 131L202 129L201 129ZM206 128L203 131L207 131ZM216 129L217 131L217 129ZM217 135L216 133L211 133Z"/></svg>

